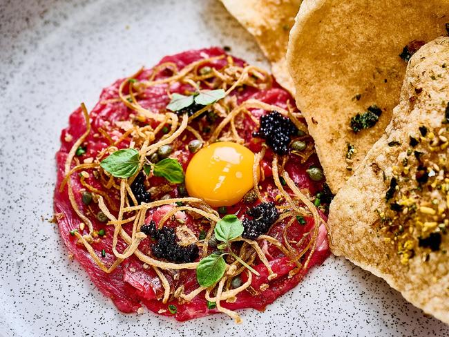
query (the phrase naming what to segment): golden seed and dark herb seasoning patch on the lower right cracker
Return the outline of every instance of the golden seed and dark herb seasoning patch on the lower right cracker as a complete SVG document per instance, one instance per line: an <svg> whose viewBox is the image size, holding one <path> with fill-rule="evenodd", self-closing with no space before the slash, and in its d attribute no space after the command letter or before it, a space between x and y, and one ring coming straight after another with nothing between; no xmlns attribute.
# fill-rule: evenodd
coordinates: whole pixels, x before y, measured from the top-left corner
<svg viewBox="0 0 449 337"><path fill-rule="evenodd" d="M399 155L402 165L392 166L387 205L378 211L384 240L394 244L402 264L418 249L424 249L423 261L431 258L429 250L442 251L449 228L449 130L419 126L417 132L419 141L410 136L410 147Z"/></svg>

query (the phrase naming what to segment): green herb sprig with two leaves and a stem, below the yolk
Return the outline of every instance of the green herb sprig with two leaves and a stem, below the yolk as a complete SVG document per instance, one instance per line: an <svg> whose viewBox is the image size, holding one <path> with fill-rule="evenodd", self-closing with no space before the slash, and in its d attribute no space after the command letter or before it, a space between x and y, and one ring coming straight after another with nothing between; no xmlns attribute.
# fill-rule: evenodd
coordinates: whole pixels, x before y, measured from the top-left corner
<svg viewBox="0 0 449 337"><path fill-rule="evenodd" d="M231 242L240 237L244 231L242 222L236 215L225 215L217 222L214 229L216 240L223 242L217 246L220 251L213 252L211 255L200 260L196 269L196 279L202 287L211 287L225 275L227 264L223 256L231 255L252 273L259 276L260 274L254 268L249 266L245 261L233 253Z"/></svg>

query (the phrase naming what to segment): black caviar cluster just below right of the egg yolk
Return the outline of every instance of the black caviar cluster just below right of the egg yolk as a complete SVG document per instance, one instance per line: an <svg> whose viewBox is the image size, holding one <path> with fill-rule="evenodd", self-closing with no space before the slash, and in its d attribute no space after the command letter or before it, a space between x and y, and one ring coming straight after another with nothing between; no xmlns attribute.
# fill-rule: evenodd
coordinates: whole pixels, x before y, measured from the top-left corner
<svg viewBox="0 0 449 337"><path fill-rule="evenodd" d="M278 210L274 202L262 202L247 211L253 220L245 218L242 220L243 228L242 238L256 240L259 235L267 233L276 220L279 218Z"/></svg>

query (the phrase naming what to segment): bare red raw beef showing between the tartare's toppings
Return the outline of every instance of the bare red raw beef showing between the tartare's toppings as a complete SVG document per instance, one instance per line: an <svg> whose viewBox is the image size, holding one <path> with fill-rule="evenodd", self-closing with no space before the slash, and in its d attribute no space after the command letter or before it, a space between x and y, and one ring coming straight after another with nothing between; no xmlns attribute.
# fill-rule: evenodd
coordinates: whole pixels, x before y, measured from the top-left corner
<svg viewBox="0 0 449 337"><path fill-rule="evenodd" d="M225 55L225 52L221 48L209 48L202 50L191 50L188 52L182 52L178 55L164 57L160 61L160 64L164 62L173 62L178 66L178 69L182 69L184 66L191 64L194 61L198 61L200 59ZM233 58L234 62L238 64L238 66L244 66L245 62L241 59ZM214 68L222 68L227 64L226 59L217 59L215 61L211 61L207 66ZM153 69L146 69L137 76L137 79L144 80L147 79ZM171 75L171 70L163 70L159 74L156 75L156 79L169 77ZM111 126L117 121L126 121L130 118L130 114L133 113L130 109L126 108L122 102L117 102L118 97L118 88L122 83L123 79L119 79L112 86L105 88L102 91L102 94L99 97L99 102L95 105L93 110L90 113L90 121L92 126L92 131L86 138L84 142L84 147L86 148L86 153L81 156L81 158L86 157L95 157L99 151L106 148L108 146L108 139L102 135L100 131L108 132L109 136L112 139L118 139L122 133L119 131L111 131ZM143 99L140 99L140 104L144 106L144 108L149 108L152 111L160 111L164 112L166 104L169 103L169 97L166 94L166 86L167 84L159 84L155 86L151 86L146 89L145 95ZM187 84L175 84L171 86L172 92L180 92L189 88ZM245 88L238 93L238 101L243 102L249 98L256 98L261 100L262 102L267 102L269 104L274 104L280 106L282 108L287 108L287 102L294 105L294 99L287 93L287 91L280 88L276 81L272 88L267 90L256 90L254 88ZM253 109L251 111L254 113L256 117L259 117L262 113L262 110ZM260 149L260 139L253 139L251 137L251 133L254 131L254 125L251 123L247 123L248 130L244 134L245 141L247 142L247 146L251 148L253 151L258 151ZM101 129L101 130L100 130ZM189 320L191 318L198 318L201 316L207 316L209 314L215 314L218 311L216 309L208 309L207 301L204 299L204 293L200 293L199 296L196 296L191 302L185 302L183 304L178 303L177 300L173 300L172 302L163 304L162 296L164 294L164 288L160 282L160 279L157 277L155 271L149 267L144 265L138 258L135 256L131 256L127 258L122 264L120 264L113 272L105 273L90 257L88 251L84 248L82 244L77 244L77 238L74 235L70 235L70 231L73 229L78 229L79 220L72 206L70 205L70 200L68 199L68 191L67 188L64 191L59 192L59 185L61 181L64 179L64 164L66 162L66 157L70 148L76 142L76 140L86 131L86 123L84 121L84 117L82 115L81 109L75 110L72 115L70 115L69 126L64 129L61 133L61 148L57 152L56 162L57 162L57 184L55 189L55 198L54 198L54 209L55 214L57 215L57 222L59 226L59 231L61 233L61 238L64 240L64 244L68 247L70 253L75 257L77 261L82 265L82 267L86 270L90 279L95 283L104 295L108 296L113 300L114 304L120 311L123 312L135 312L137 309L146 305L151 311L155 313L162 314L165 316L174 316L177 320ZM95 135L95 136L94 136ZM184 142L189 142L189 138L184 140ZM178 140L177 142L180 142ZM121 148L126 148L129 142L124 141L120 144ZM178 160L184 166L184 169L187 167L189 160L191 158L191 154L188 151L179 151ZM261 163L262 169L265 171L265 176L271 176L271 151L267 151L266 159ZM309 168L309 166L316 165L319 166L318 159L316 155L312 155L307 162L301 164L300 161L293 156L291 160L287 163L286 170L289 173L290 177L294 180L294 182L299 186L300 189L307 189L310 195L314 195L318 191L320 191L323 186L322 183L313 182L309 179L305 170ZM86 170L88 171L88 170ZM153 178L152 178L153 179ZM152 185L154 186L157 183L157 179L154 178L152 181ZM82 203L81 193L84 186L79 181L79 177L75 174L71 177L71 183L73 186L73 191L75 193L75 199L77 204L79 205L79 209L86 212L88 211L87 206ZM99 184L93 175L90 175L86 181L89 184L92 184L97 189L102 189L102 185ZM273 182L268 183L265 180L265 184L262 184L263 189L265 191L274 191ZM172 197L178 197L178 192L176 189L171 191ZM274 197L272 193L269 193L270 197ZM118 195L109 195L111 199L111 203L115 203L118 205ZM96 207L96 206L94 206ZM169 209L170 207L168 207ZM229 208L229 213L238 212L238 215L243 215L245 213L246 206L243 204L237 204L233 207ZM95 211L95 210L94 210ZM151 210L147 214L149 221L151 218L160 218L167 211L167 207L163 209L157 209L155 211ZM323 219L325 216L323 215ZM310 231L313 227L313 220L306 219L307 223L303 226L296 224L296 226L292 225L289 228L289 238L300 238L303 233ZM96 218L92 219L93 226L96 231L99 229L104 229L106 231L106 235L102 237L101 240L95 240L92 246L93 249L97 252L99 258L106 265L111 265L115 260L115 256L112 252L112 240L113 240L113 229L108 227L102 222L97 221ZM193 219L190 217L187 219L187 225L195 231L195 233L199 233L198 227L196 226ZM129 228L130 224L124 225L125 231L131 233L131 229ZM131 224L132 226L132 224ZM275 235L276 233L282 233L282 229L285 226L285 223L276 224L271 228L269 234ZM280 235L282 238L282 235ZM141 242L139 249L141 251L149 250L149 239L145 239ZM126 247L126 244L119 240L117 244L117 250L123 251ZM104 253L106 256L102 257L102 250L104 249ZM316 264L321 264L327 256L329 256L329 247L327 244L327 236L324 226L322 225L319 230L318 240L316 243L316 251L312 256L310 263L307 269L302 269L299 273L296 273L293 277L289 277L289 271L291 271L295 264L289 261L289 258L283 256L276 247L267 244L268 254L267 258L269 258L269 263L271 264L272 269L278 273L278 278L274 280L268 280L268 272L266 267L258 262L254 266L260 272L260 276L254 276L252 280L252 286L254 289L259 289L260 285L267 283L269 284L269 288L265 291L260 291L258 295L252 295L249 291L242 291L238 294L235 302L228 303L222 302L223 307L227 307L229 309L242 309L242 308L254 308L258 310L263 310L265 307L276 300L283 293L295 287L298 282L303 278L307 270L313 267ZM178 272L178 275L175 277L175 272L173 271L173 275L167 273L166 277L171 284L171 288L175 289L180 285L184 285L184 289L186 293L189 291L196 289L198 287L198 283L196 281L195 271L194 270L182 270ZM246 273L242 273L242 278L245 280ZM168 305L176 305L177 312L175 314L171 314L171 312L167 309Z"/></svg>

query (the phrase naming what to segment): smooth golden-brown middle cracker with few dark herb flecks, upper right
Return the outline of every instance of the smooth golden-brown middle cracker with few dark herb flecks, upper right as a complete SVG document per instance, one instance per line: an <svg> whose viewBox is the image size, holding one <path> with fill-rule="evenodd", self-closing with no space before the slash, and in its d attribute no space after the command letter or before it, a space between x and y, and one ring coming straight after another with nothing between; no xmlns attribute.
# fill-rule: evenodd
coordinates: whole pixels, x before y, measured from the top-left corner
<svg viewBox="0 0 449 337"><path fill-rule="evenodd" d="M412 40L446 34L449 0L305 0L290 32L287 65L296 104L336 193L382 135L399 103ZM354 133L350 120L376 104L377 124ZM346 160L347 144L355 147ZM350 171L352 170L352 171Z"/></svg>

